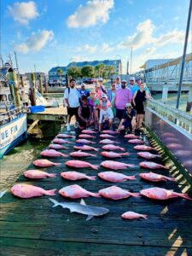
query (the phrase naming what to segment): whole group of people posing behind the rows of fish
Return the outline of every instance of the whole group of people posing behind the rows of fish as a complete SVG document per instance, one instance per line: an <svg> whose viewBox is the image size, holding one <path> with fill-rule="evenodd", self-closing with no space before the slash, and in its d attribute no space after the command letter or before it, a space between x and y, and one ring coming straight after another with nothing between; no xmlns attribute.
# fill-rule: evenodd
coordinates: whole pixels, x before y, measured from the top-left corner
<svg viewBox="0 0 192 256"><path fill-rule="evenodd" d="M130 78L130 83L120 80L118 76L107 90L102 84L102 78L94 84L93 90L87 90L86 84L76 88L76 80L71 79L64 93L64 103L67 106L67 131L75 116L75 128L87 129L91 125L96 130L113 130L114 121L119 121L118 131L141 129L145 114L144 102L151 98L150 91L142 79Z"/></svg>

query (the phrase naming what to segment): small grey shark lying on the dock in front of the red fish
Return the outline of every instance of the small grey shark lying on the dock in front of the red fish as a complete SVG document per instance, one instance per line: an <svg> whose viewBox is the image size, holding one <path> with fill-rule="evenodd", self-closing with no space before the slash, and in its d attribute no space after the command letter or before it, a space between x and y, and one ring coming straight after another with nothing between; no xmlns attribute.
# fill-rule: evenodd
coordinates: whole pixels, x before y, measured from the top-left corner
<svg viewBox="0 0 192 256"><path fill-rule="evenodd" d="M49 201L52 201L54 203L53 207L61 206L63 208L69 209L70 212L78 212L78 213L87 215L86 220L90 220L90 218L93 218L94 216L102 216L109 212L109 210L104 207L87 206L83 199L81 199L80 203L59 202L59 201L55 201L55 199L52 199L52 198L49 198Z"/></svg>

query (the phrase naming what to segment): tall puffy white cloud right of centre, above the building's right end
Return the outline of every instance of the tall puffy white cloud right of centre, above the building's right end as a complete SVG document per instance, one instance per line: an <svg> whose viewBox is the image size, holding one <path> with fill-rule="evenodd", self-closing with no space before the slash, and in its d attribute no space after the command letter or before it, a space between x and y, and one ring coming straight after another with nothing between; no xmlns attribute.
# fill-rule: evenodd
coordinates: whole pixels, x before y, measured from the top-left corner
<svg viewBox="0 0 192 256"><path fill-rule="evenodd" d="M151 20L145 20L137 25L137 32L125 39L120 44L121 47L134 47L134 49L141 48L143 45L151 41L154 32L154 25Z"/></svg>

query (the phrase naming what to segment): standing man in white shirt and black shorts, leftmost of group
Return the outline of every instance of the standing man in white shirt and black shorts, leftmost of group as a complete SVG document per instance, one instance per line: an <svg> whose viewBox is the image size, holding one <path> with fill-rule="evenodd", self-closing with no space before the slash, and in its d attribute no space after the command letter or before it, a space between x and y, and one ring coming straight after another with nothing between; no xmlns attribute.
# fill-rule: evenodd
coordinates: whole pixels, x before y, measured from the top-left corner
<svg viewBox="0 0 192 256"><path fill-rule="evenodd" d="M78 109L79 109L79 90L75 88L76 80L71 79L70 85L65 90L64 101L67 105L67 131L70 131L70 122L73 115L75 115L76 123L78 120ZM74 125L76 128L76 124Z"/></svg>

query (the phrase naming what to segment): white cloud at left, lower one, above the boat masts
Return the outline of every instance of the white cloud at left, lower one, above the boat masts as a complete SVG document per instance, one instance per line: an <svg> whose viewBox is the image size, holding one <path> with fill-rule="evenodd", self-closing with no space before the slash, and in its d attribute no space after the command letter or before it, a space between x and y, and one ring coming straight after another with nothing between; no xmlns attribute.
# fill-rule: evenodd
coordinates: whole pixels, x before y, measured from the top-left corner
<svg viewBox="0 0 192 256"><path fill-rule="evenodd" d="M32 36L27 38L25 43L16 45L15 49L24 54L27 54L29 51L39 51L45 44L51 41L53 37L54 33L48 30L32 33Z"/></svg>

